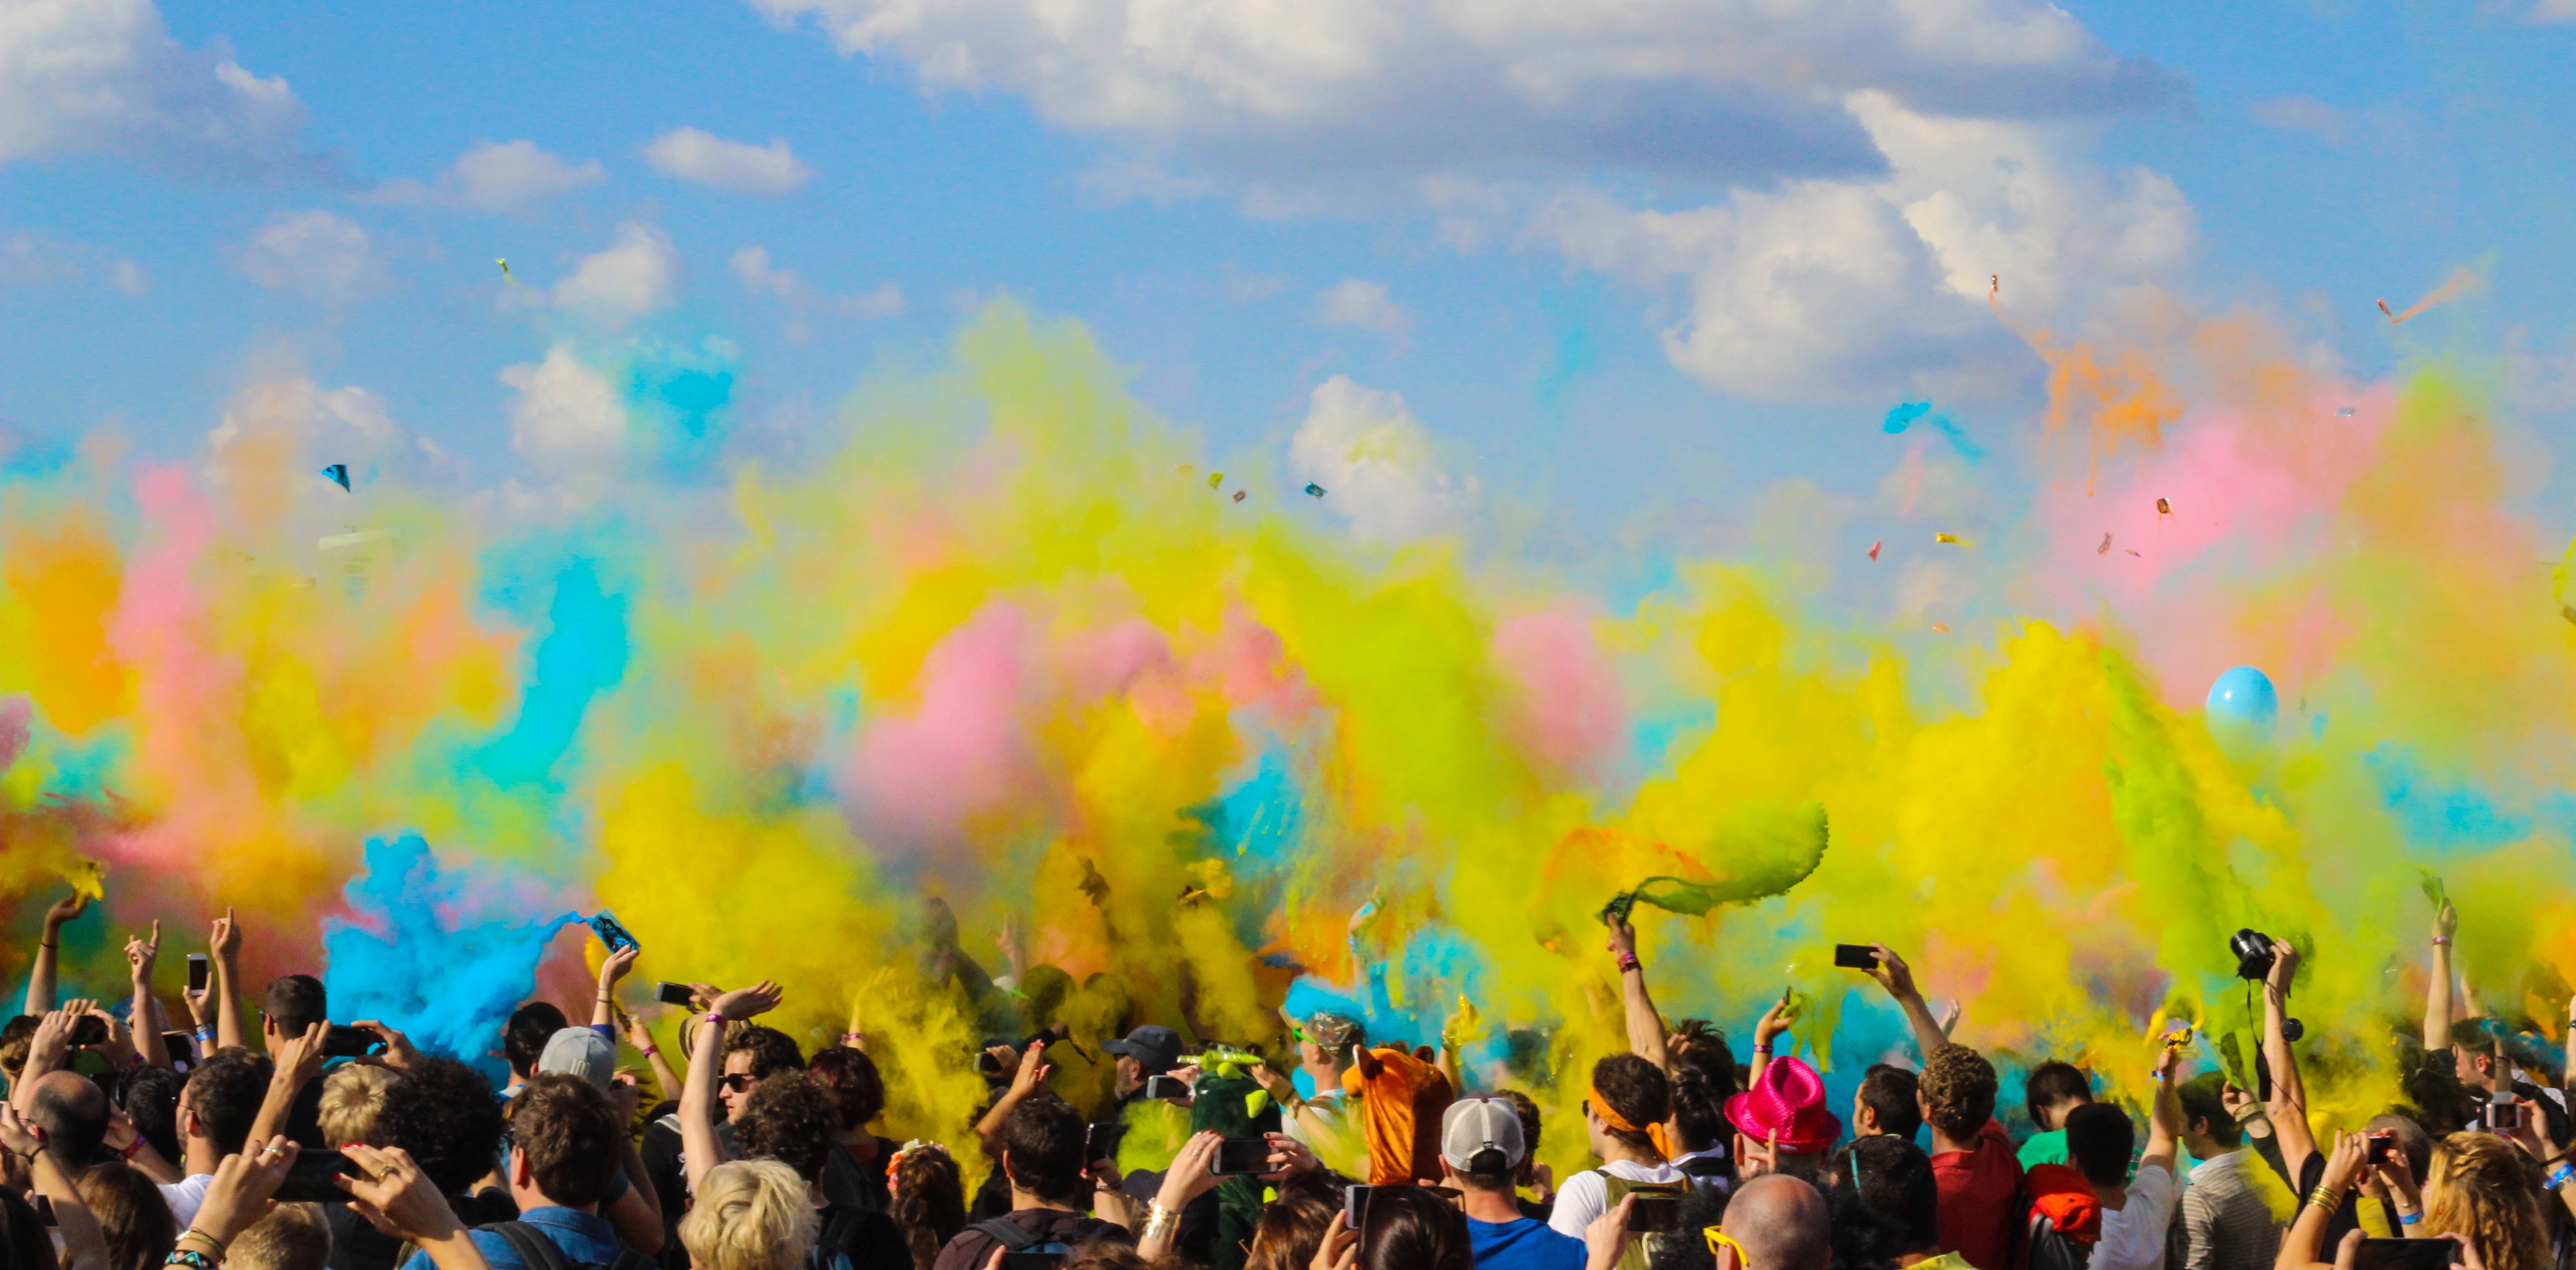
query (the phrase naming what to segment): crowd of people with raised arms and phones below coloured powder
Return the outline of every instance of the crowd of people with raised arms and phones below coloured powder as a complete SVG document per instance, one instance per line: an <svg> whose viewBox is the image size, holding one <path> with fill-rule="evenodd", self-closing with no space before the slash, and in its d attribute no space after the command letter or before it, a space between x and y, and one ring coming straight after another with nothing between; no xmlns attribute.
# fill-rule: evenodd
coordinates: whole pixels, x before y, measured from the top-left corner
<svg viewBox="0 0 2576 1270"><path fill-rule="evenodd" d="M868 1038L806 1054L760 1023L778 984L688 984L672 1064L623 1010L626 945L603 958L587 1023L541 1000L507 1018L495 1087L379 1020L335 1025L309 974L260 989L252 1033L229 912L209 930L206 987L183 997L185 1033L165 1033L152 992L157 925L126 943L124 1018L57 1002L57 935L82 912L46 912L26 1012L0 1028L0 1270L2576 1262L2566 1072L2550 1079L2566 1064L2540 1028L2452 989L2447 904L2424 1030L2403 1038L2403 1103L2383 1115L2331 1133L2313 1121L2285 1015L2300 956L2257 940L2262 1043L2239 1069L2254 1090L2226 1069L2184 1079L2195 1041L2177 1030L2154 1048L2146 1105L2074 1064L2032 1064L2022 1141L1999 1118L1994 1061L1950 1038L1955 1015L1932 1012L1899 953L1870 945L1860 974L1904 1012L1919 1061L1873 1064L1844 1121L1816 1066L1780 1051L1793 997L1739 1061L1721 1028L1656 1010L1633 930L1613 920L1625 1051L1579 1077L1592 1159L1561 1180L1535 1159L1540 1105L1471 1090L1458 1036L1414 1048L1340 1012L1285 1018L1285 1038L1121 1020L1097 1041L1115 1079L1095 1105L1054 1082L1084 1043L1030 1018L1028 1038L956 1056L989 1074L989 1100L951 1146L878 1136ZM1151 1123L1182 1131L1139 1159Z"/></svg>

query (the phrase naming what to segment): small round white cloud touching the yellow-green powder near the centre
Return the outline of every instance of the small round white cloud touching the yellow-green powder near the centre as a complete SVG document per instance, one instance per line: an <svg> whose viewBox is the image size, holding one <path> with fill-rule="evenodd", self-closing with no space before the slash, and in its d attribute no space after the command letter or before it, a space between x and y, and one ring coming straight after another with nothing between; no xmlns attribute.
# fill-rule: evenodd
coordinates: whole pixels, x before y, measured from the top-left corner
<svg viewBox="0 0 2576 1270"><path fill-rule="evenodd" d="M1324 487L1324 505L1350 518L1365 541L1406 541L1448 528L1473 482L1453 487L1432 435L1404 397L1332 376L1314 389L1306 422L1288 441L1288 464Z"/></svg>

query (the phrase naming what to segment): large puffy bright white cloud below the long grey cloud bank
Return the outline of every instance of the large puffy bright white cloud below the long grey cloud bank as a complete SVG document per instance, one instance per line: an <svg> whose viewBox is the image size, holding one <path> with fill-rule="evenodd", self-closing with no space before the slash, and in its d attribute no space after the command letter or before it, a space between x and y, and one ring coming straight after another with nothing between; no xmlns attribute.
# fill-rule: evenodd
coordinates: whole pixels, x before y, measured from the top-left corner
<svg viewBox="0 0 2576 1270"><path fill-rule="evenodd" d="M1577 193L1533 232L1638 283L1687 283L1690 314L1664 330L1664 353L1713 389L1770 399L1994 381L1991 363L2027 355L1986 307L1991 278L2014 319L2081 319L2190 255L2182 191L2092 162L2081 126L1937 118L1878 93L1850 108L1886 178L1685 211Z"/></svg>

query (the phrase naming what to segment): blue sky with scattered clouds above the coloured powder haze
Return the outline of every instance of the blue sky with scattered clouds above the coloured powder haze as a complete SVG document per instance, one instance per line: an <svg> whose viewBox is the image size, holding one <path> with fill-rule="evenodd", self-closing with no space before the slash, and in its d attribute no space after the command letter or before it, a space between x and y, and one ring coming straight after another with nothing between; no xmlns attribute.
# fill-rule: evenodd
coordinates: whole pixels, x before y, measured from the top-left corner
<svg viewBox="0 0 2576 1270"><path fill-rule="evenodd" d="M477 487L719 464L1010 291L1216 456L1291 469L1316 389L1368 389L1340 425L1437 469L1386 533L1473 484L1690 536L1783 477L1870 489L1901 399L2012 464L2040 366L1968 283L1996 270L2069 330L2249 304L2316 366L2455 355L2543 443L2576 422L2568 0L0 5L0 420L33 446L191 456L286 381ZM479 144L515 167L464 180ZM2491 286L2378 319L2458 265ZM582 404L665 371L737 451Z"/></svg>

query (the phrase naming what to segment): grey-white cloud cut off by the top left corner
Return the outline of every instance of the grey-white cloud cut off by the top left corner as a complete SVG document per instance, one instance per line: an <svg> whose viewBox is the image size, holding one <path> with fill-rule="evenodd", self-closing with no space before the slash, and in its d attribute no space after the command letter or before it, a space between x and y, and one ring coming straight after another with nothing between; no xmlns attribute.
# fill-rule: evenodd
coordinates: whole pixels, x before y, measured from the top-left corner
<svg viewBox="0 0 2576 1270"><path fill-rule="evenodd" d="M152 0L0 8L0 162L106 152L185 175L330 175L304 106L224 46L170 39Z"/></svg>

